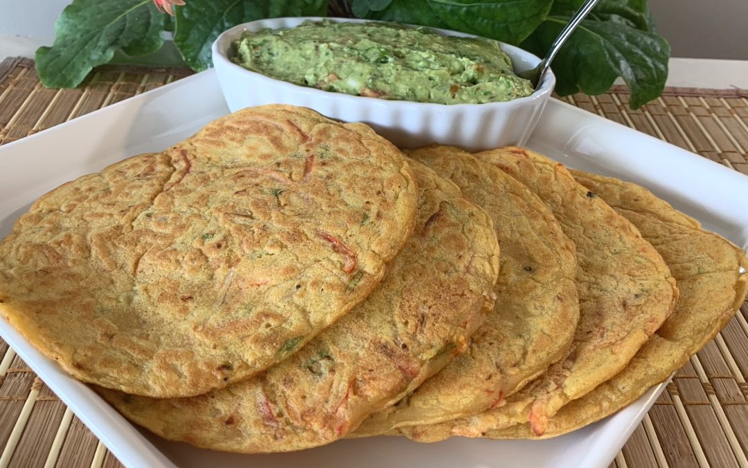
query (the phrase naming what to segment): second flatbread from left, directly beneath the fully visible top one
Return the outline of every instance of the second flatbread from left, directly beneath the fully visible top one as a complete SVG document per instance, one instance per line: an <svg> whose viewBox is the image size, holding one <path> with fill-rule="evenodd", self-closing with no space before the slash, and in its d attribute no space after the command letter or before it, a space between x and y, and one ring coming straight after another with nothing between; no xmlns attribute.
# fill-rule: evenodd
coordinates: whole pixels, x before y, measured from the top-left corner
<svg viewBox="0 0 748 468"><path fill-rule="evenodd" d="M102 390L120 413L169 440L230 452L330 443L465 350L493 307L498 243L485 211L412 162L416 231L352 312L260 376L193 398Z"/></svg>

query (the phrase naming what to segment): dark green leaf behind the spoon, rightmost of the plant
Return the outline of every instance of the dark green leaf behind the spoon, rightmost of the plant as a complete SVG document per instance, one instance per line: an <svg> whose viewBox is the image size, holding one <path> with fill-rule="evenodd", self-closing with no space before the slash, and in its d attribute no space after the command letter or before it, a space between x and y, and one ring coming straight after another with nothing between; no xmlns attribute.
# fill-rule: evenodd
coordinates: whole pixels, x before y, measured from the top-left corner
<svg viewBox="0 0 748 468"><path fill-rule="evenodd" d="M631 89L629 105L638 109L662 93L670 46L654 32L634 28L631 13L618 15L611 12L622 10L604 8L612 3L622 2L601 2L601 11L595 11L601 15L598 18L606 19L585 19L562 46L551 65L556 91L561 96L578 91L602 94L621 76ZM566 22L568 16L548 16L522 46L545 55Z"/></svg>

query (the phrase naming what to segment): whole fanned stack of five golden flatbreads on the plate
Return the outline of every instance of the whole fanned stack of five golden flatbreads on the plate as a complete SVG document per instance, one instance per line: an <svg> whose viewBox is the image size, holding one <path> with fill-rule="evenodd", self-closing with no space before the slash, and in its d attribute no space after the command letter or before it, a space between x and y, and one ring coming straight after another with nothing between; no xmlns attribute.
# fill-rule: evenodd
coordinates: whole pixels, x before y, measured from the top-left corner
<svg viewBox="0 0 748 468"><path fill-rule="evenodd" d="M273 105L40 198L0 243L0 313L195 446L534 439L669 378L746 268L640 186Z"/></svg>

